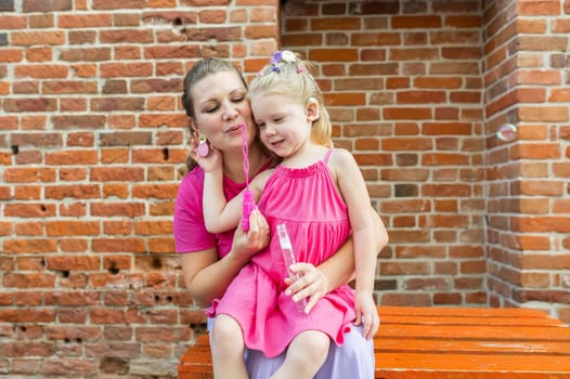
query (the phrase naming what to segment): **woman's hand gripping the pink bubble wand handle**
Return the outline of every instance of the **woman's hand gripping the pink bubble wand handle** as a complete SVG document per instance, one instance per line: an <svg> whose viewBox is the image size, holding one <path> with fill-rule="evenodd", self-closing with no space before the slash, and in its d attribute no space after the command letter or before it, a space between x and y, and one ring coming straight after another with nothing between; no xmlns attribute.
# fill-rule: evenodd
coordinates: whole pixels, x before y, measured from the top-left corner
<svg viewBox="0 0 570 379"><path fill-rule="evenodd" d="M234 233L234 248L249 258L269 245L269 225L261 212L256 208L249 215L249 231L242 228L242 222L237 224Z"/></svg>

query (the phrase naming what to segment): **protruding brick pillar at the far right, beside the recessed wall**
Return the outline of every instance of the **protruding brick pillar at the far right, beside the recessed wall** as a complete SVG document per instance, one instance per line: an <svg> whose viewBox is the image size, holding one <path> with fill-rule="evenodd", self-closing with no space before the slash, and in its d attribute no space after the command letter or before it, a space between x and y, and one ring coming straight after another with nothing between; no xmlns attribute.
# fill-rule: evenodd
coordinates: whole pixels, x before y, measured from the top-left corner
<svg viewBox="0 0 570 379"><path fill-rule="evenodd" d="M490 303L568 323L569 14L568 1L489 1L483 28ZM495 136L505 122L514 142Z"/></svg>

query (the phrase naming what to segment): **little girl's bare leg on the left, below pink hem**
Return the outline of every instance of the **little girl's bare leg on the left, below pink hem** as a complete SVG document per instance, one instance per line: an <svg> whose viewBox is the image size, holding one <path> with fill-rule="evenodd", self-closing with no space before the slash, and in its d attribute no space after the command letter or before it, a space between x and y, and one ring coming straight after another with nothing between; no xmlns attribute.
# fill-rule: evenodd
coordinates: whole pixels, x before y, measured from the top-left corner
<svg viewBox="0 0 570 379"><path fill-rule="evenodd" d="M248 379L244 362L244 336L233 317L225 314L216 316L210 344L215 378Z"/></svg>

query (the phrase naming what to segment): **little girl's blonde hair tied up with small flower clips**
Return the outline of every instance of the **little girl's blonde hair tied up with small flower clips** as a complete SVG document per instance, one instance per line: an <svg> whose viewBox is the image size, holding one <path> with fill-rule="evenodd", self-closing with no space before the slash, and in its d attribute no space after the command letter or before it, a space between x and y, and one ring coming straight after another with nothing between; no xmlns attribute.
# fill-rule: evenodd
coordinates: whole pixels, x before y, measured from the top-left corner
<svg viewBox="0 0 570 379"><path fill-rule="evenodd" d="M310 70L314 65L302 61L290 51L277 51L249 84L249 97L254 94L276 93L292 101L308 105L316 101L319 118L313 121L311 140L326 147L333 147L333 127L324 106L323 94Z"/></svg>

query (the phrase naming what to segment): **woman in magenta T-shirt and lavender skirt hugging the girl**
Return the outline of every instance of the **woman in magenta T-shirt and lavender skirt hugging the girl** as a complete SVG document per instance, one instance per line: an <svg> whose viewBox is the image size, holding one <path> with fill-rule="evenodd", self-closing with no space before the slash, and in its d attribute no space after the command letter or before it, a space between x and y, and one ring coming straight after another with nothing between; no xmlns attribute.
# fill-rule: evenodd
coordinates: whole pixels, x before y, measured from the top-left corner
<svg viewBox="0 0 570 379"><path fill-rule="evenodd" d="M202 60L184 79L182 103L190 117L191 128L206 136L209 144L223 156L224 193L232 198L245 187L243 171L242 134L239 126L248 126L249 178L271 167L272 157L263 149L257 138L251 109L246 99L247 86L242 75L230 63L217 58ZM192 154L196 154L196 135ZM202 208L204 171L193 168L182 181L174 210L174 238L177 251L181 252L184 283L194 301L208 306L221 298L237 272L249 259L269 243L269 227L263 217L254 211L249 231L241 226L234 232L211 235L206 231ZM372 211L372 209L371 209ZM378 250L387 243L381 232L381 221L374 212L377 225ZM308 298L308 310L329 290L349 282L354 273L351 241L336 254L314 267L298 263L293 267L300 276L287 291L294 301ZM355 325L359 325L357 322ZM213 326L215 327L215 326ZM316 378L373 378L365 367L374 361L372 341L362 337L359 327L346 334L342 347L329 350L328 357ZM280 366L284 354L268 358L256 351L246 351L246 364L250 378L269 378Z"/></svg>

